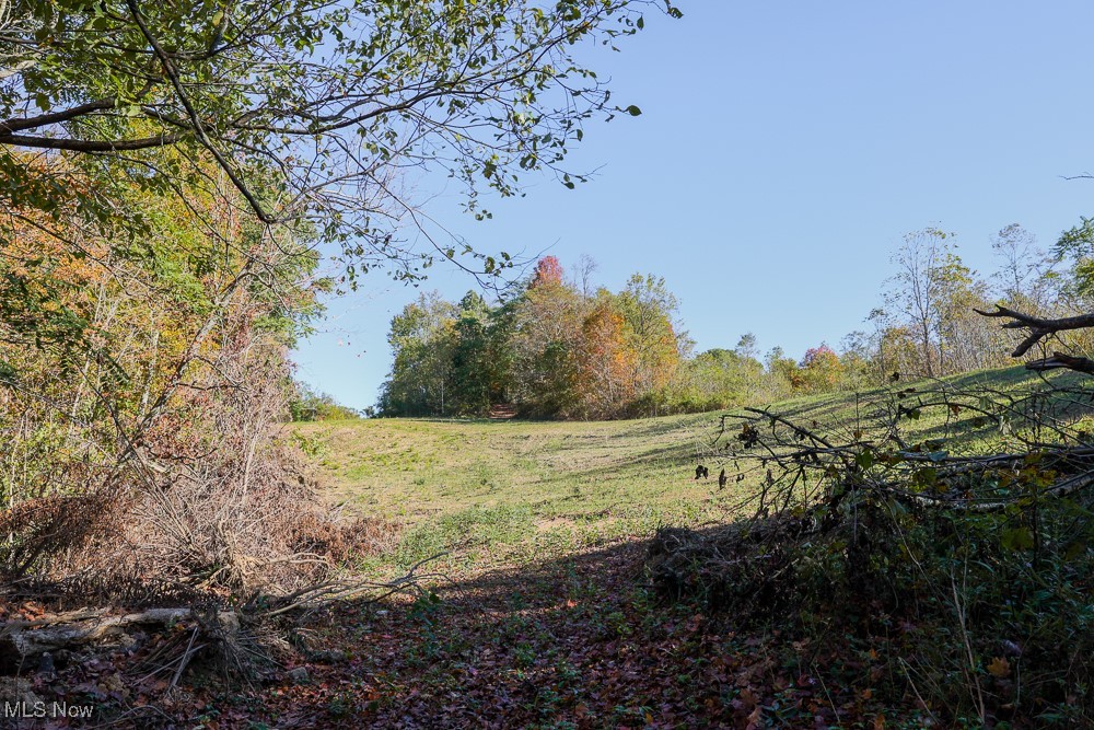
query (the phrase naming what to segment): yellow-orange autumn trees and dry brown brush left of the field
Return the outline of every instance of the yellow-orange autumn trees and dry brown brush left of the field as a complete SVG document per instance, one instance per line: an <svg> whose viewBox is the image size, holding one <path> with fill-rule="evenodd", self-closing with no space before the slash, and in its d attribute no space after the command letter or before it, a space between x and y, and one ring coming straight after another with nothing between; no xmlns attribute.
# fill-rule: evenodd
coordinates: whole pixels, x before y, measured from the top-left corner
<svg viewBox="0 0 1094 730"><path fill-rule="evenodd" d="M130 193L141 241L68 207L42 227L0 213L0 278L43 294L0 291L0 573L284 587L303 575L288 522L311 502L275 431L288 348L318 311L316 255L237 218L231 187Z"/></svg>

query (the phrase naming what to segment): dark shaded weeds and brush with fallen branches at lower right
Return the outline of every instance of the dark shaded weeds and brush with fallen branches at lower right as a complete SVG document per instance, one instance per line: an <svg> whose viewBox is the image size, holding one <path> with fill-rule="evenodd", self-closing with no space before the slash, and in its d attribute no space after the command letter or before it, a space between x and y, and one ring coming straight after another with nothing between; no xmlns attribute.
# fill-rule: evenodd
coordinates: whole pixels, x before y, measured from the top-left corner
<svg viewBox="0 0 1094 730"><path fill-rule="evenodd" d="M654 584L845 654L866 647L871 694L913 695L947 723L1089 719L1094 452L1071 425L1085 394L900 389L846 440L808 414L742 416L720 437L728 459L763 475L754 515L706 533L662 530ZM930 407L943 418L907 438L903 422ZM1029 450L947 438L966 409L1006 415L1002 441Z"/></svg>

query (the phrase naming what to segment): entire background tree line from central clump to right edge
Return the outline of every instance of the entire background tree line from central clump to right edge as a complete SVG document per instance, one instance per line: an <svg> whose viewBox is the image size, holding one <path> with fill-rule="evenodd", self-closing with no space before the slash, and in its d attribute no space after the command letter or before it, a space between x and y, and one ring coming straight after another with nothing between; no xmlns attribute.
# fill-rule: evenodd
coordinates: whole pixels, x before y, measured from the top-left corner
<svg viewBox="0 0 1094 730"><path fill-rule="evenodd" d="M991 241L996 270L963 260L938 228L895 246L881 303L835 347L794 359L761 354L746 333L732 348L695 352L679 302L664 278L633 275L624 289L593 288L587 257L566 273L538 262L509 296L475 291L458 302L423 293L391 323L394 352L375 413L475 416L512 404L536 418L619 418L712 410L799 394L943 376L1009 364L1014 336L977 314L994 305L1035 316L1089 311L1094 293L1094 222L1083 219L1051 250L1014 223ZM1058 335L1085 349L1082 333Z"/></svg>

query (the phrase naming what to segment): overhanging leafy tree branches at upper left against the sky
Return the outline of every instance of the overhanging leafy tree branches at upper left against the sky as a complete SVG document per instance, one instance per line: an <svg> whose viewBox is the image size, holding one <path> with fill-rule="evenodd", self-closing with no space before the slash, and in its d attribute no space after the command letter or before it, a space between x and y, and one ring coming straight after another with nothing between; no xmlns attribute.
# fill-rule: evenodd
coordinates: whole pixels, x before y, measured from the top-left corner
<svg viewBox="0 0 1094 730"><path fill-rule="evenodd" d="M209 160L248 215L340 241L350 276L396 262L415 278L464 252L396 240L424 225L412 176L458 178L478 216L480 189L512 195L525 172L572 187L583 123L640 113L578 51L635 33L650 4L0 0L0 200L132 230L125 185L208 185Z"/></svg>

